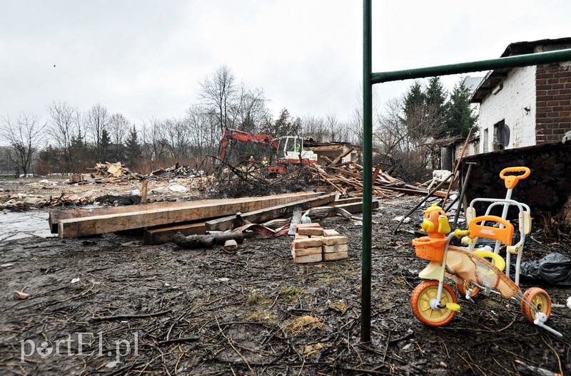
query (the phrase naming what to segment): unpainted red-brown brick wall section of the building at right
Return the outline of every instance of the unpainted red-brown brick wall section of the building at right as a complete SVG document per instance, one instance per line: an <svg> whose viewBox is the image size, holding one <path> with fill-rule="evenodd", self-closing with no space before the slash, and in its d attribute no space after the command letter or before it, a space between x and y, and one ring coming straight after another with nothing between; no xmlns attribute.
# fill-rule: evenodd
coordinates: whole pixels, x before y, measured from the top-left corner
<svg viewBox="0 0 571 376"><path fill-rule="evenodd" d="M571 130L571 63L537 66L535 135L537 144L561 141Z"/></svg>

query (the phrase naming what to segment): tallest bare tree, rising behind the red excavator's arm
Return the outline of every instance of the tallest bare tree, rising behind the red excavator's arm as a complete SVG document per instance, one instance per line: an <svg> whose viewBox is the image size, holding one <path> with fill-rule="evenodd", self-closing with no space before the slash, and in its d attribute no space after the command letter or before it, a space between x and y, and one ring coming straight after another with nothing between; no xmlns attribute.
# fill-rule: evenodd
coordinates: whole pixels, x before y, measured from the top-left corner
<svg viewBox="0 0 571 376"><path fill-rule="evenodd" d="M201 85L200 98L218 118L221 134L225 127L233 127L230 111L236 100L236 78L228 66L220 66L207 75Z"/></svg>

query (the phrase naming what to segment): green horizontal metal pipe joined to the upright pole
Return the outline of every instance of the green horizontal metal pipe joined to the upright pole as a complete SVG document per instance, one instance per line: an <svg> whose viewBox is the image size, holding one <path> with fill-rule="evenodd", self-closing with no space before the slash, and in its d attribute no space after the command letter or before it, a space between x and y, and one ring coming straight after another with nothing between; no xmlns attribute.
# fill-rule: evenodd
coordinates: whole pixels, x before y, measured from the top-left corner
<svg viewBox="0 0 571 376"><path fill-rule="evenodd" d="M405 69L404 71L390 71L371 73L371 83L385 83L411 78L435 77L438 75L451 75L478 71L490 71L499 68L515 68L521 66L537 66L537 64L557 63L571 61L571 48L559 51L528 53L526 55L507 56L490 60L471 61L469 63L447 64L445 66L432 66L426 68Z"/></svg>

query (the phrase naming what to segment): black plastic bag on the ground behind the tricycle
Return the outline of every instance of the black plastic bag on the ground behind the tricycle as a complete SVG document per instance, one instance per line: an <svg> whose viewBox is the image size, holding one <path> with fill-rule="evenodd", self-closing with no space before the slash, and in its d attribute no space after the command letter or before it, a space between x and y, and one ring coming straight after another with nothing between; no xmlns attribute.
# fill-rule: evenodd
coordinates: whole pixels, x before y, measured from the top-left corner
<svg viewBox="0 0 571 376"><path fill-rule="evenodd" d="M571 286L571 258L554 253L521 263L520 275L555 286Z"/></svg>

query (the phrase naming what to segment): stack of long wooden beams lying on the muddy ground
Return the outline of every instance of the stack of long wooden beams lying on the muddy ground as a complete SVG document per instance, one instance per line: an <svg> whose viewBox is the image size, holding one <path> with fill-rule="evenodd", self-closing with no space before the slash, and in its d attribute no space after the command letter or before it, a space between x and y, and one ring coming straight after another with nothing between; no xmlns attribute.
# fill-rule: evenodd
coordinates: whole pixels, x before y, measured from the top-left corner
<svg viewBox="0 0 571 376"><path fill-rule="evenodd" d="M295 192L238 199L54 209L50 212L49 224L51 232L61 238L141 229L143 244L162 244L171 241L177 232L188 236L206 234L207 231L227 231L241 226L244 221L260 224L287 218L294 208L305 211L330 206L350 213L363 211L360 199L338 199L335 193Z"/></svg>

